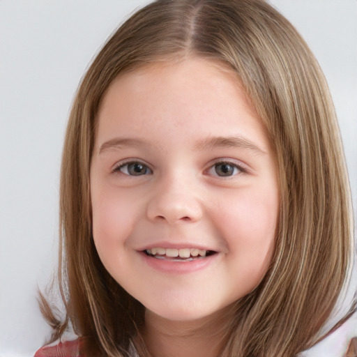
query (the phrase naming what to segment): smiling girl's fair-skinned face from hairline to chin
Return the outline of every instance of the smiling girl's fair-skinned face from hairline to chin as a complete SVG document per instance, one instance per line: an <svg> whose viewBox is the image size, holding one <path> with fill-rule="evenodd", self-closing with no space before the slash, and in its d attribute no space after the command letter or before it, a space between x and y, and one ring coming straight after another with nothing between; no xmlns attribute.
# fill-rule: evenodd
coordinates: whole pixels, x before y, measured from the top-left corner
<svg viewBox="0 0 357 357"><path fill-rule="evenodd" d="M186 59L117 78L98 113L91 200L102 263L151 312L200 319L252 291L273 254L279 192L236 75Z"/></svg>

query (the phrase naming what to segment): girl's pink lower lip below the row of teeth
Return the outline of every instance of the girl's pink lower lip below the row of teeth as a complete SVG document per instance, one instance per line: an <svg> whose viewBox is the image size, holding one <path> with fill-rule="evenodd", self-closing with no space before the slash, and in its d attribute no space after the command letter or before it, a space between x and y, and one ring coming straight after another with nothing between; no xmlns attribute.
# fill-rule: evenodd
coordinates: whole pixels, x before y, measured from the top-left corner
<svg viewBox="0 0 357 357"><path fill-rule="evenodd" d="M151 268L154 268L157 271L162 273L173 273L173 274L185 274L185 273L194 273L200 271L204 268L207 268L209 265L217 259L219 256L218 253L210 255L209 257L197 258L192 260L183 260L183 261L173 261L169 259L158 259L146 255L144 252L139 252L142 256L142 259L147 265Z"/></svg>

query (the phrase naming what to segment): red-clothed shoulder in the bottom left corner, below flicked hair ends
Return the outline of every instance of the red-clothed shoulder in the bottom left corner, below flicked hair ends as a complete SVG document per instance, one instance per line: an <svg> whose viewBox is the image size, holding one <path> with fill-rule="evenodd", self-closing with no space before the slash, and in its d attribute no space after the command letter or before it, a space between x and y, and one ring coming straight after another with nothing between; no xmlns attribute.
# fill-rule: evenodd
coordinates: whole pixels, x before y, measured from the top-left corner
<svg viewBox="0 0 357 357"><path fill-rule="evenodd" d="M41 347L33 357L84 357L79 355L81 339L57 340Z"/></svg>

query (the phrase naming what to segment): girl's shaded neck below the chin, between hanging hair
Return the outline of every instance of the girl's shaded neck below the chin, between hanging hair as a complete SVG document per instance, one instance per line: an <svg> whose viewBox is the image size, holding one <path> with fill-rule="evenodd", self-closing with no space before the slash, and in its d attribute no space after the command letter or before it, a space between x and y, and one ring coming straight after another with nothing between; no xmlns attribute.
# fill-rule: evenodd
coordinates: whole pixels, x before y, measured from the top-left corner
<svg viewBox="0 0 357 357"><path fill-rule="evenodd" d="M172 321L146 310L143 337L153 357L218 357L227 321L226 311L196 321Z"/></svg>

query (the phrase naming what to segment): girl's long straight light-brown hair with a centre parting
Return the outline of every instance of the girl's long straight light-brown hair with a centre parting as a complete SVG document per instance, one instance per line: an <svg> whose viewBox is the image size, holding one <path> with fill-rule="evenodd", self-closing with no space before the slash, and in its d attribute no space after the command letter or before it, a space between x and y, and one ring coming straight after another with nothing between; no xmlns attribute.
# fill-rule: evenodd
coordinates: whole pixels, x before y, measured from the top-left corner
<svg viewBox="0 0 357 357"><path fill-rule="evenodd" d="M158 0L132 15L82 79L61 167L59 284L68 327L90 356L150 356L144 306L102 265L91 229L89 169L97 114L113 80L146 63L229 66L266 128L280 184L278 236L259 286L232 306L221 357L296 356L321 337L349 280L353 213L340 130L324 75L296 29L263 0Z"/></svg>

